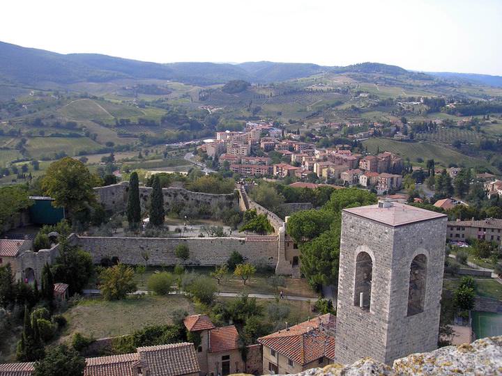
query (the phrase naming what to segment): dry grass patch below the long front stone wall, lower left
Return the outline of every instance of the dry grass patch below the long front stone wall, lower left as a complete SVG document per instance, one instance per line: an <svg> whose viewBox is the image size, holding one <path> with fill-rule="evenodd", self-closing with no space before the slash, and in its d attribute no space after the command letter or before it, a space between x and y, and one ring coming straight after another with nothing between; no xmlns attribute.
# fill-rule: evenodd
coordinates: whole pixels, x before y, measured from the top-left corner
<svg viewBox="0 0 502 376"><path fill-rule="evenodd" d="M103 338L130 334L147 325L169 324L171 313L178 308L193 313L190 301L181 295L147 295L120 301L84 299L64 314L68 327L61 340L70 338L77 331L93 338Z"/></svg>

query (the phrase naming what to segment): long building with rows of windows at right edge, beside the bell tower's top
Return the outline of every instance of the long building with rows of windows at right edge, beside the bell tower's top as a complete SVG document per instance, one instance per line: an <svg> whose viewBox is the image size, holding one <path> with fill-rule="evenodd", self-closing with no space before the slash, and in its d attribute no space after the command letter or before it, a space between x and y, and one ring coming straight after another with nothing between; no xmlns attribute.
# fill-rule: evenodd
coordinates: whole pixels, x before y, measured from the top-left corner
<svg viewBox="0 0 502 376"><path fill-rule="evenodd" d="M479 221L449 221L447 238L452 241L467 239L487 240L502 246L502 219L487 218Z"/></svg>

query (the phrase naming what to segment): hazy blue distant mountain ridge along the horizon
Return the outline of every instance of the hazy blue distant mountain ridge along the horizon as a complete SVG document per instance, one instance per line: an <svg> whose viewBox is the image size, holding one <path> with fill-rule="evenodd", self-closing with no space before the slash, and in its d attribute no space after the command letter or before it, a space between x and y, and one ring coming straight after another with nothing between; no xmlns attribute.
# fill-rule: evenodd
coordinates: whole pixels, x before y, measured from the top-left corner
<svg viewBox="0 0 502 376"><path fill-rule="evenodd" d="M57 54L0 42L0 82L34 85L44 82L73 84L79 81L106 82L114 79L169 79L187 84L225 84L231 80L270 83L332 74L429 75L410 72L396 65L360 63L328 67L312 63L274 63L271 61L229 63L151 63L102 54ZM432 73L435 77L464 79L502 86L502 77ZM448 75L449 78L448 78ZM431 76L429 76L432 79Z"/></svg>

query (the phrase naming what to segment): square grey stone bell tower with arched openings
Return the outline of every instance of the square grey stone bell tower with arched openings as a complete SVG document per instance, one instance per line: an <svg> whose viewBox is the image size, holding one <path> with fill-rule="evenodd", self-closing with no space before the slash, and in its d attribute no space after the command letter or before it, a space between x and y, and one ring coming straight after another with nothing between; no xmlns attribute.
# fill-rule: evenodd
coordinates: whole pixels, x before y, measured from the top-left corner
<svg viewBox="0 0 502 376"><path fill-rule="evenodd" d="M343 210L335 361L436 348L446 221L388 201Z"/></svg>

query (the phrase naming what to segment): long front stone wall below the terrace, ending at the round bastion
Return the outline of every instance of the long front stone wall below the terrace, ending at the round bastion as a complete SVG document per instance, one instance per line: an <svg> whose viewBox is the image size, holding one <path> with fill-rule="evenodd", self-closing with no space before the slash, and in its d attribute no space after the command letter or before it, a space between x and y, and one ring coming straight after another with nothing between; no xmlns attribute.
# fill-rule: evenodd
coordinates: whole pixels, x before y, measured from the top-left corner
<svg viewBox="0 0 502 376"><path fill-rule="evenodd" d="M190 249L185 265L222 265L232 251L238 251L250 263L275 267L277 263L277 236L252 237L76 237L76 244L91 253L94 263L105 257L117 256L121 263L144 264L142 255L148 253L148 265L176 265L181 263L174 255L178 244Z"/></svg>

